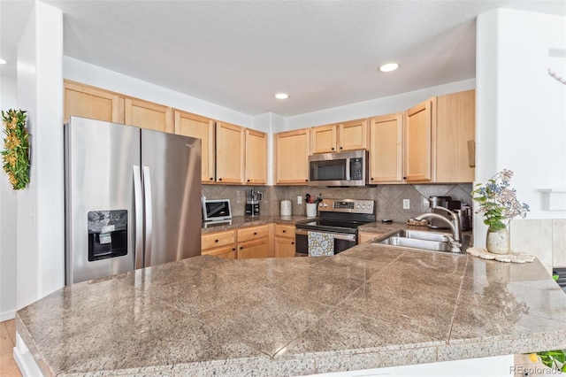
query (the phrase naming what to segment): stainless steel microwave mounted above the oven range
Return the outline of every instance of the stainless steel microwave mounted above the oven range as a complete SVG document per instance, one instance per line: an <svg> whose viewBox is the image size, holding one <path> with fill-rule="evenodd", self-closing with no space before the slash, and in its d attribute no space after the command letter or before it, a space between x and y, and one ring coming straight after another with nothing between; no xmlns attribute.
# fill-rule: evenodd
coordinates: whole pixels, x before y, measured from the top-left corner
<svg viewBox="0 0 566 377"><path fill-rule="evenodd" d="M309 181L312 186L366 186L367 150L323 153L309 156Z"/></svg>

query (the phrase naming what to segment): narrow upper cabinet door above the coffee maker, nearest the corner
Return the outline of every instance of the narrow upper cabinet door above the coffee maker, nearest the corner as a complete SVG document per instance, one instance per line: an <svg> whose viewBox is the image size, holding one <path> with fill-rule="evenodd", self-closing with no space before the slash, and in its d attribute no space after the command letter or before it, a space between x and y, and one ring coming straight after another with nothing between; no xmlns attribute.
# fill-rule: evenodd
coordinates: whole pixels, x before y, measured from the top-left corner
<svg viewBox="0 0 566 377"><path fill-rule="evenodd" d="M267 184L267 134L246 129L246 184Z"/></svg>

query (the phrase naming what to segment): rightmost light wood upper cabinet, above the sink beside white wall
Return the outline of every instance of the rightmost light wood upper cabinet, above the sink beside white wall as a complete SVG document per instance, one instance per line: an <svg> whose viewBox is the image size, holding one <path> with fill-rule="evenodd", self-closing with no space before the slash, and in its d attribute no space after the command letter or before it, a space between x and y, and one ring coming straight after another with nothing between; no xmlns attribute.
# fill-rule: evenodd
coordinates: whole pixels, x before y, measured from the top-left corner
<svg viewBox="0 0 566 377"><path fill-rule="evenodd" d="M437 96L405 115L405 181L474 181L475 90Z"/></svg>

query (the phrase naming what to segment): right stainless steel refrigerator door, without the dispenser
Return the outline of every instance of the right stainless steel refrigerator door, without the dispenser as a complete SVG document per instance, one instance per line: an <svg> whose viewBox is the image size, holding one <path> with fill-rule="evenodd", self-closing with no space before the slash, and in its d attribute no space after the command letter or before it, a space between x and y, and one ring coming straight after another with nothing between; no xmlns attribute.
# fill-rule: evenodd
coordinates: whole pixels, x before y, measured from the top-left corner
<svg viewBox="0 0 566 377"><path fill-rule="evenodd" d="M201 255L201 140L142 129L144 266Z"/></svg>

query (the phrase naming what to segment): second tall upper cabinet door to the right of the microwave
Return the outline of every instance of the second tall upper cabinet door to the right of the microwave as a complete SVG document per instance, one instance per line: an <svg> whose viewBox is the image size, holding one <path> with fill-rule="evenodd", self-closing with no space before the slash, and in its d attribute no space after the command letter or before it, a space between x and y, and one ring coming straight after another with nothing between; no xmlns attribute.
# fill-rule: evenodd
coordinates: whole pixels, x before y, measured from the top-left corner
<svg viewBox="0 0 566 377"><path fill-rule="evenodd" d="M434 104L435 99L426 100L405 112L405 181L432 180Z"/></svg>

